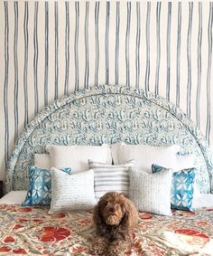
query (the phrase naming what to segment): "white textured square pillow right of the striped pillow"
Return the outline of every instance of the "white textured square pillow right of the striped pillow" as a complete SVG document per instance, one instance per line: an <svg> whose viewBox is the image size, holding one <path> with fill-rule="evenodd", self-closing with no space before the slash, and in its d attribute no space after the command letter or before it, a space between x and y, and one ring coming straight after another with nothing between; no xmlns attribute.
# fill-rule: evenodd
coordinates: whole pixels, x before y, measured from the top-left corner
<svg viewBox="0 0 213 256"><path fill-rule="evenodd" d="M159 173L130 171L129 198L142 212L171 215L171 169Z"/></svg>

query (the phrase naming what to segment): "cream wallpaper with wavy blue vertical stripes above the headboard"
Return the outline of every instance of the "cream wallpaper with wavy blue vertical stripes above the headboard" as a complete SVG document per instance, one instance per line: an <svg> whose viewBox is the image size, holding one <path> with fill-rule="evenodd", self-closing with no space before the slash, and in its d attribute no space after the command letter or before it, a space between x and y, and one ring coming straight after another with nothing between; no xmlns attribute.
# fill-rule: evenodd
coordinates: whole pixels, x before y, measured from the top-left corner
<svg viewBox="0 0 213 256"><path fill-rule="evenodd" d="M208 1L1 1L0 179L36 113L104 83L171 100L212 145L212 19Z"/></svg>

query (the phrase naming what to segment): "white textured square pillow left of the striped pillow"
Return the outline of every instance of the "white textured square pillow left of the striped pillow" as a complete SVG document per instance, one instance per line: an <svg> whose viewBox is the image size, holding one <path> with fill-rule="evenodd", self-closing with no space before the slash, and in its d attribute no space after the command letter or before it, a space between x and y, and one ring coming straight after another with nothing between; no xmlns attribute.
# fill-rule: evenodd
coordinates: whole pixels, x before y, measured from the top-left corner
<svg viewBox="0 0 213 256"><path fill-rule="evenodd" d="M69 175L51 168L50 213L87 210L96 203L93 170Z"/></svg>

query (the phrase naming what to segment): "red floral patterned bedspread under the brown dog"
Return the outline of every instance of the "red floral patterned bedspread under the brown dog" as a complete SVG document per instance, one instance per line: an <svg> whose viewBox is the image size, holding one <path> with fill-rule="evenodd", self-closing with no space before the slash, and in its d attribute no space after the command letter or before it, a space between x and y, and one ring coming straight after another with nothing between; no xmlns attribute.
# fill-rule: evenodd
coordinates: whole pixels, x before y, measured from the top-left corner
<svg viewBox="0 0 213 256"><path fill-rule="evenodd" d="M92 210L49 214L45 207L0 204L0 254L89 255ZM140 213L126 255L213 255L213 209Z"/></svg>

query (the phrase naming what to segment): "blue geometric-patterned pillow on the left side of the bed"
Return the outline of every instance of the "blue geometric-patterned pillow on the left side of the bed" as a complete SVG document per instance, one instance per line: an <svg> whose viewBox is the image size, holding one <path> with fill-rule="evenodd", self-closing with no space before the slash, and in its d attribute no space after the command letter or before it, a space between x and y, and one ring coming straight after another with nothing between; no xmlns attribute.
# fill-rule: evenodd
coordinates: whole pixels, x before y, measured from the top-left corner
<svg viewBox="0 0 213 256"><path fill-rule="evenodd" d="M71 168L62 168L61 171L69 174ZM22 206L51 205L51 170L36 166L29 167L30 187Z"/></svg>

